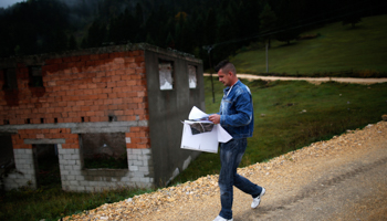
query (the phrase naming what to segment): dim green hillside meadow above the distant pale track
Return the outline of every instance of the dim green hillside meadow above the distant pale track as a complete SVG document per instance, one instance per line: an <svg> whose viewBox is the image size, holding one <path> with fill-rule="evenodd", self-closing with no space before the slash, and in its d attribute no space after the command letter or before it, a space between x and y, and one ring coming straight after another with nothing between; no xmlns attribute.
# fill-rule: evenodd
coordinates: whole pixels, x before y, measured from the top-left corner
<svg viewBox="0 0 387 221"><path fill-rule="evenodd" d="M344 72L345 75L356 72L358 76L365 77L387 76L387 29L384 27L387 27L387 14L363 18L354 29L344 27L341 22L326 24L301 34L318 33L318 38L292 41L290 45L272 41L269 73L337 75ZM266 72L265 51L262 48L245 48L230 61L236 64L239 73Z"/></svg>

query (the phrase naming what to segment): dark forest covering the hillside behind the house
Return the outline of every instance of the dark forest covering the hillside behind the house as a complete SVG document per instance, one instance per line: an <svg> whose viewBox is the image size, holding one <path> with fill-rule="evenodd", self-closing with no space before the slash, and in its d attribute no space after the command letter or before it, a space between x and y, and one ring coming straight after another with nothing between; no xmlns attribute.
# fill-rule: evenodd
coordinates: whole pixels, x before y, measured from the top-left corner
<svg viewBox="0 0 387 221"><path fill-rule="evenodd" d="M242 46L290 43L330 22L355 27L381 0L27 0L0 8L0 57L146 42L209 66Z"/></svg>

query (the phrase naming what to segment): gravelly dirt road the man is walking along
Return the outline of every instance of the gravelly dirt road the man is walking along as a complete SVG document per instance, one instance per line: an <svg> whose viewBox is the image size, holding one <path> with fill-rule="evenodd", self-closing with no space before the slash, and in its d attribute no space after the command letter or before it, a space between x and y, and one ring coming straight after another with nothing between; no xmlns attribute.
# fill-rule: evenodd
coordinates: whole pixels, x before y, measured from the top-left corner
<svg viewBox="0 0 387 221"><path fill-rule="evenodd" d="M234 221L386 220L387 122L240 168L266 188L259 208L234 189ZM74 220L209 220L220 210L217 176L104 204ZM66 219L64 219L66 220Z"/></svg>

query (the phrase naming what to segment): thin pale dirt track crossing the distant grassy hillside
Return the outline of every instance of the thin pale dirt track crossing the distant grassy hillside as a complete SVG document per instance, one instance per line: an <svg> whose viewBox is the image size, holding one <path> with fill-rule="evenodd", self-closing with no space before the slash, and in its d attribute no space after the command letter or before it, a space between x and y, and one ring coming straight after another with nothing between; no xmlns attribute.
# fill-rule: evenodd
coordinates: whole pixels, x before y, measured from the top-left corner
<svg viewBox="0 0 387 221"><path fill-rule="evenodd" d="M210 74L205 73L205 76ZM217 76L217 74L212 74ZM248 78L248 80L263 80L263 81L306 81L313 84L321 84L323 82L341 82L341 83L353 83L353 84L375 84L387 82L387 77L384 78L354 78L354 77L289 77L289 76L257 76L252 74L238 74L238 77Z"/></svg>

